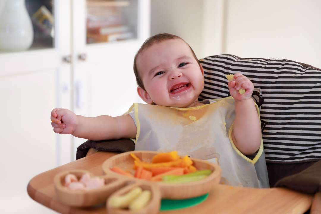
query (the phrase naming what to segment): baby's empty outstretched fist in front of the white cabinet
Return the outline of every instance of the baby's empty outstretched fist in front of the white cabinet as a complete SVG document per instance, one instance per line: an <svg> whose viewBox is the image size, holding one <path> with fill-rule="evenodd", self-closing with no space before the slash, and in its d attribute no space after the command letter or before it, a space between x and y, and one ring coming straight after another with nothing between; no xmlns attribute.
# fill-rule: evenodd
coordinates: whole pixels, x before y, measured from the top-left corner
<svg viewBox="0 0 321 214"><path fill-rule="evenodd" d="M50 120L55 133L72 134L77 126L77 116L65 108L52 110Z"/></svg>

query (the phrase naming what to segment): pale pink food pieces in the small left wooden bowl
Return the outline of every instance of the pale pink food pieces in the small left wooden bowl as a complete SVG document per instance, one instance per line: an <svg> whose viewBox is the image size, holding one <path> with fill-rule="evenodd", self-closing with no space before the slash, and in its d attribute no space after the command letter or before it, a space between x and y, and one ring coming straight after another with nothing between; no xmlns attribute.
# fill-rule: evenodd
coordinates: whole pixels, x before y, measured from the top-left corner
<svg viewBox="0 0 321 214"><path fill-rule="evenodd" d="M65 176L65 187L71 190L97 189L104 184L104 179L100 177L90 177L87 173L83 174L79 181L74 174L68 174Z"/></svg>

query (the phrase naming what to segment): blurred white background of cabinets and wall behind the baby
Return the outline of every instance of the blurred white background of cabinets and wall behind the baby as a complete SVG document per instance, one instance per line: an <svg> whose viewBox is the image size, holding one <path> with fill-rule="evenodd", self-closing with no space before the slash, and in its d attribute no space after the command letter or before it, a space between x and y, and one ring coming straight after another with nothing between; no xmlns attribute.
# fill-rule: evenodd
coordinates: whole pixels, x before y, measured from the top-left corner
<svg viewBox="0 0 321 214"><path fill-rule="evenodd" d="M319 0L0 0L2 213L54 213L32 177L75 160L85 139L52 131L50 112L118 116L136 93L133 59L168 32L198 58L283 58L321 67Z"/></svg>

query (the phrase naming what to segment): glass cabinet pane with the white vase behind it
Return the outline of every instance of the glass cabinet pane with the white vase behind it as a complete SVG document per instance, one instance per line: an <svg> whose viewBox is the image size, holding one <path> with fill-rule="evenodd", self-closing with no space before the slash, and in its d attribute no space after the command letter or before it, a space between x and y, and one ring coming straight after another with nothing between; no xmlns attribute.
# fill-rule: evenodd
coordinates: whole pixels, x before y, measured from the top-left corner
<svg viewBox="0 0 321 214"><path fill-rule="evenodd" d="M54 0L0 0L0 52L52 48Z"/></svg>

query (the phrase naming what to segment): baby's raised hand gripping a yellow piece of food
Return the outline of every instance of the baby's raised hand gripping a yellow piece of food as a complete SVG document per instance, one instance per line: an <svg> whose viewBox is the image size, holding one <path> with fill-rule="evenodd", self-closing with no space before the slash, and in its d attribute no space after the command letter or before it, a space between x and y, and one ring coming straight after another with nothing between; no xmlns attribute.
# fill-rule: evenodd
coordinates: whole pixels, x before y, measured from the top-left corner
<svg viewBox="0 0 321 214"><path fill-rule="evenodd" d="M241 73L236 73L234 74L234 79L232 81L229 81L229 89L230 94L235 99L235 101L241 101L251 98L254 86L246 76L242 75ZM240 94L240 89L244 89L245 93Z"/></svg>

